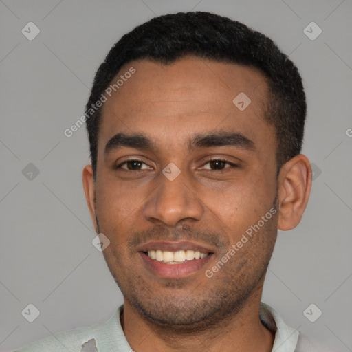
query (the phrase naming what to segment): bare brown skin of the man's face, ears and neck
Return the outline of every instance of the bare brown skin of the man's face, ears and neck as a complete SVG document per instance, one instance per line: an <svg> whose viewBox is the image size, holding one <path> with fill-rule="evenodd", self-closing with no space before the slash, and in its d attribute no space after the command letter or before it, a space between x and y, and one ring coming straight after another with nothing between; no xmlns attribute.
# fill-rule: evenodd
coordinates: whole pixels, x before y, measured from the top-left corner
<svg viewBox="0 0 352 352"><path fill-rule="evenodd" d="M300 222L311 189L305 155L276 177L274 126L263 109L267 83L258 70L186 57L172 65L134 61L135 74L104 103L96 181L91 165L83 185L96 232L111 241L104 257L124 294L122 327L135 351L272 351L274 335L259 320L259 305L277 229ZM240 92L252 100L240 111ZM198 133L232 131L254 148L212 146L189 151ZM115 134L140 133L153 150L122 147L104 153ZM236 164L214 164L210 158ZM126 159L137 159L129 170ZM162 170L181 171L170 181ZM129 164L131 167L131 164ZM218 170L217 170L218 169ZM276 214L205 275L270 209ZM195 241L210 248L201 270L161 278L146 267L137 246L151 240Z"/></svg>

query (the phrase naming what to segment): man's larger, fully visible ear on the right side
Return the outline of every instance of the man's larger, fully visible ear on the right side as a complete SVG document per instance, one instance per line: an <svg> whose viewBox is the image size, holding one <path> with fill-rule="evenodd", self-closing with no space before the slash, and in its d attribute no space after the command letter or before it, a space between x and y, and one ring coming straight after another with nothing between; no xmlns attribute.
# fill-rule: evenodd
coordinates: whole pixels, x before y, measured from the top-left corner
<svg viewBox="0 0 352 352"><path fill-rule="evenodd" d="M311 192L311 164L303 154L290 159L278 177L278 229L296 228Z"/></svg>

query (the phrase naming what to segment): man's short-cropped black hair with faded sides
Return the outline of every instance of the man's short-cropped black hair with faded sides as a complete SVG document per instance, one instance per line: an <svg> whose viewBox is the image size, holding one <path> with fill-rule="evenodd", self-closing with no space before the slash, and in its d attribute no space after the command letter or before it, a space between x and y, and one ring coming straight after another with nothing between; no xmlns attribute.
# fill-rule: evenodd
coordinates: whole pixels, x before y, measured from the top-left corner
<svg viewBox="0 0 352 352"><path fill-rule="evenodd" d="M302 78L288 56L243 23L209 12L179 12L155 17L124 34L98 68L85 110L94 179L102 111L96 102L121 67L138 59L168 65L184 56L259 69L269 88L265 119L276 130L278 170L300 153L307 104Z"/></svg>

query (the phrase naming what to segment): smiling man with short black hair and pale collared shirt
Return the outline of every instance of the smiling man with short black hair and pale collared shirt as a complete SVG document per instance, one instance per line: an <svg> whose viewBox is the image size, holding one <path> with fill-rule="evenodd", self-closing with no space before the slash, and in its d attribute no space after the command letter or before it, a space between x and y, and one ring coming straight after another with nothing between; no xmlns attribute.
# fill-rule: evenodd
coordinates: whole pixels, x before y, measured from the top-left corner
<svg viewBox="0 0 352 352"><path fill-rule="evenodd" d="M309 199L305 114L294 63L239 22L169 14L124 35L91 89L83 170L124 305L21 351L323 351L261 303L277 230Z"/></svg>

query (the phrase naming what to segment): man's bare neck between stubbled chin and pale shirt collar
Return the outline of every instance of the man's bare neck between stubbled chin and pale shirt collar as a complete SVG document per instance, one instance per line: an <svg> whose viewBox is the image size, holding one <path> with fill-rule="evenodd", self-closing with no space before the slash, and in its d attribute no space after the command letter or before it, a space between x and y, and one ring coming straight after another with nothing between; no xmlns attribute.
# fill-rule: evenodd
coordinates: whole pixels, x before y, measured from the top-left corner
<svg viewBox="0 0 352 352"><path fill-rule="evenodd" d="M122 329L135 352L270 352L274 334L259 318L260 298L252 297L236 314L201 329L160 326L140 316L125 300Z"/></svg>

